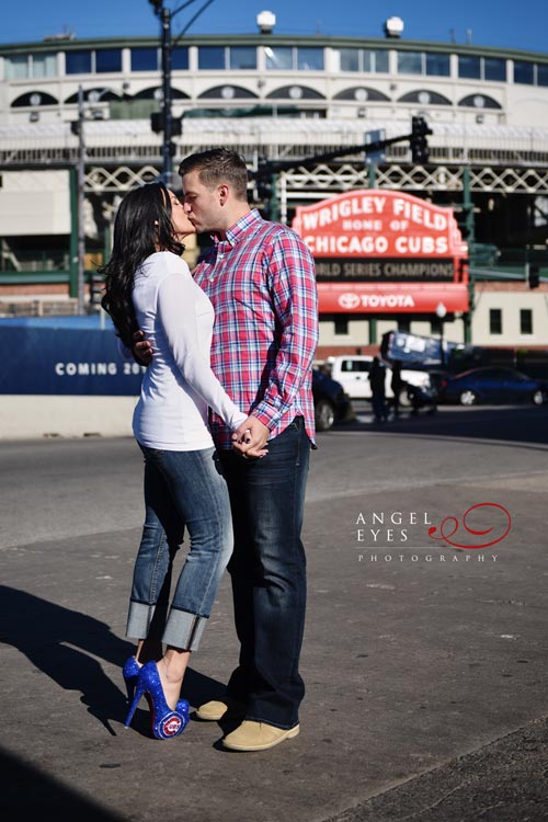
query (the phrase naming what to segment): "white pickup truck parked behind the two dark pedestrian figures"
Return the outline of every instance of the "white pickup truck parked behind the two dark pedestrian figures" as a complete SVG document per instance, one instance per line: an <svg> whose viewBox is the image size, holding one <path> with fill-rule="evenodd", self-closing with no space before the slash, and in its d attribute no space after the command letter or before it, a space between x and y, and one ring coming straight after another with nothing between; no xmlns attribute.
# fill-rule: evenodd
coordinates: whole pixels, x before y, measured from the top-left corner
<svg viewBox="0 0 548 822"><path fill-rule="evenodd" d="M369 372L373 365L372 356L366 354L344 354L342 356L329 357L327 364L331 367L331 378L336 379L342 385L349 397L352 399L370 399L372 386L369 383ZM391 398L393 397L390 385L392 370L388 364L385 363L385 365L386 396ZM431 387L427 372L402 368L401 379L410 386L418 386L420 388ZM401 392L400 404L410 404L407 391Z"/></svg>

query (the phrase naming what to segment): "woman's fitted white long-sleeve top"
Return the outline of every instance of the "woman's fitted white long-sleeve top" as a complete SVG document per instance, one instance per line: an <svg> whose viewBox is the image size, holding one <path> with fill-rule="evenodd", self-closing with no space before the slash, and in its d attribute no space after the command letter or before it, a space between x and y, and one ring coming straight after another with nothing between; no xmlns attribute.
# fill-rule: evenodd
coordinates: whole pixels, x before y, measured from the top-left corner
<svg viewBox="0 0 548 822"><path fill-rule="evenodd" d="M153 350L134 413L136 439L161 450L209 448L208 406L232 430L247 419L209 365L215 320L209 298L183 260L159 251L136 271L133 300Z"/></svg>

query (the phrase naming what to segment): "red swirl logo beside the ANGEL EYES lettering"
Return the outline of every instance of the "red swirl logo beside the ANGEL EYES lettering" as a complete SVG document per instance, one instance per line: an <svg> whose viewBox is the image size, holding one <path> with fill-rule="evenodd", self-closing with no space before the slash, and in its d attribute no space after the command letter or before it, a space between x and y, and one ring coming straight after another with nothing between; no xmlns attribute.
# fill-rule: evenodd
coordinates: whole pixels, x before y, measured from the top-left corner
<svg viewBox="0 0 548 822"><path fill-rule="evenodd" d="M476 524L476 527L472 527L473 521L477 518L484 521L486 514L488 514L491 520L492 517L495 517L494 524L489 527L478 527L478 524ZM483 522L481 522L481 525L483 525ZM478 502L476 505L471 505L471 507L465 511L461 522L459 522L456 516L446 516L445 520L442 521L439 527L433 525L429 528L429 537L431 539L443 540L455 548L476 550L478 548L489 548L491 545L501 543L504 537L510 534L511 527L512 517L504 505L499 505L498 502ZM495 536L495 534L499 534L499 536ZM468 539L465 543L463 539L466 535L470 535L470 537L480 537L483 538L483 540L487 537L490 538L490 541L475 544L476 540L472 539L472 543L470 543ZM460 541L457 541L457 539Z"/></svg>

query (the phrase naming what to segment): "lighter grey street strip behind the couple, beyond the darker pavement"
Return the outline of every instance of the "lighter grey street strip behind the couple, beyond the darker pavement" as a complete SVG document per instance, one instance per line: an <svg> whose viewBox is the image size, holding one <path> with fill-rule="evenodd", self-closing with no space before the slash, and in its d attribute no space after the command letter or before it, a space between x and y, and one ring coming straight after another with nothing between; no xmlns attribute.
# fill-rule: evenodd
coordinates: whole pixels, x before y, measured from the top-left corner
<svg viewBox="0 0 548 822"><path fill-rule="evenodd" d="M469 482L507 468L512 476L544 471L548 407L442 407L375 425L370 406L354 404L355 422L318 437L308 502L430 484L432 472L436 482ZM142 457L132 438L0 441L0 548L142 522Z"/></svg>

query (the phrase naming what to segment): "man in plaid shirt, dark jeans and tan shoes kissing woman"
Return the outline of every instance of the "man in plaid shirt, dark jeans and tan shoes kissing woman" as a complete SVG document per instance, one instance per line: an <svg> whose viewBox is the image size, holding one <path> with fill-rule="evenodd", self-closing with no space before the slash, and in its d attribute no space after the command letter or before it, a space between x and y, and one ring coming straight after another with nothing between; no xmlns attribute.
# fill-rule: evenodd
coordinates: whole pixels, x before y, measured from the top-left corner
<svg viewBox="0 0 548 822"><path fill-rule="evenodd" d="M192 155L179 173L189 218L198 232L216 235L194 272L215 308L212 367L250 413L235 435L212 416L232 509L228 570L240 659L226 699L201 706L197 716L244 718L224 745L261 751L298 734L305 693L298 670L306 607L300 530L315 438L315 267L294 231L250 209L247 168L237 153ZM256 458L264 446L269 454Z"/></svg>

